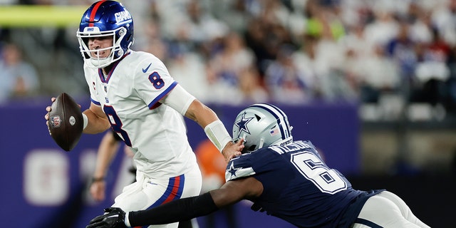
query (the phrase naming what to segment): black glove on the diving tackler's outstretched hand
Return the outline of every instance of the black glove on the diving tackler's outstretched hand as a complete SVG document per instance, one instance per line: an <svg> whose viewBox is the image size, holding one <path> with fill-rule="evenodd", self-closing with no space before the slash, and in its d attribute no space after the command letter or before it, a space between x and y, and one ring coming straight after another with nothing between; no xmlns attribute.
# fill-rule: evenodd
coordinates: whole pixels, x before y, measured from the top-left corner
<svg viewBox="0 0 456 228"><path fill-rule="evenodd" d="M105 209L105 214L90 220L86 228L126 228L125 212L118 207Z"/></svg>

